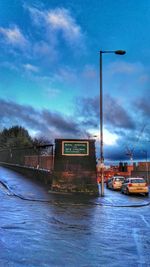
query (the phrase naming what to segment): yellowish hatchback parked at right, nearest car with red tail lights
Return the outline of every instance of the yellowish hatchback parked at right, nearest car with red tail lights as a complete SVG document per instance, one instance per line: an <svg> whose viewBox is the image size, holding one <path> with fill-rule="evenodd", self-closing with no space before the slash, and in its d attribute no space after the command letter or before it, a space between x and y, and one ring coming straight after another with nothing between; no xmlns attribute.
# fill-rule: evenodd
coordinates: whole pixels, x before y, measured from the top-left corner
<svg viewBox="0 0 150 267"><path fill-rule="evenodd" d="M133 178L130 177L124 181L121 187L121 192L123 194L145 194L149 193L149 188L147 183L143 178Z"/></svg>

